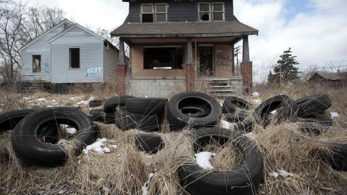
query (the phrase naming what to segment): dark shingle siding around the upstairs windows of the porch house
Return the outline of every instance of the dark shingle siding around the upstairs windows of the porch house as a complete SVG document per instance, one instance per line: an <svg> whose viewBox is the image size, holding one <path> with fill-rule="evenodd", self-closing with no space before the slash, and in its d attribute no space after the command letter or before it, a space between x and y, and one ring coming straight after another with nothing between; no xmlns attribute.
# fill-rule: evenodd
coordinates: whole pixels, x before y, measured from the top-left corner
<svg viewBox="0 0 347 195"><path fill-rule="evenodd" d="M225 0L222 2L224 2L225 5L225 20L234 20L235 16L233 1ZM158 3L158 1L146 1L146 3ZM141 4L141 2L129 3L130 23L141 23ZM168 2L168 6L168 22L197 22L199 20L198 1L170 1Z"/></svg>

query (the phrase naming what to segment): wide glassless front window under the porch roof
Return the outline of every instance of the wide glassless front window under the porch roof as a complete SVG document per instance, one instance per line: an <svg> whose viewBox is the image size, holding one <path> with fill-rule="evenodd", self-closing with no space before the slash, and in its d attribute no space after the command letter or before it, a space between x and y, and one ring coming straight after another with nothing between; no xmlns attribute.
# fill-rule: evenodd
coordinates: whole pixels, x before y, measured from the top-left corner
<svg viewBox="0 0 347 195"><path fill-rule="evenodd" d="M145 47L143 57L144 69L183 68L183 46Z"/></svg>

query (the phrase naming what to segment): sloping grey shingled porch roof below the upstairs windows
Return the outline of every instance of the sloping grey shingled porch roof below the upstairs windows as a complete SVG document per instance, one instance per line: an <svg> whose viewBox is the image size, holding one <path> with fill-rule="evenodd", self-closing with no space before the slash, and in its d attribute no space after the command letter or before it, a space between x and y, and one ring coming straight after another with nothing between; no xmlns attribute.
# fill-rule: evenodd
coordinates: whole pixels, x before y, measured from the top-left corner
<svg viewBox="0 0 347 195"><path fill-rule="evenodd" d="M218 37L258 35L258 30L240 23L236 18L228 22L125 22L111 32L120 37Z"/></svg>

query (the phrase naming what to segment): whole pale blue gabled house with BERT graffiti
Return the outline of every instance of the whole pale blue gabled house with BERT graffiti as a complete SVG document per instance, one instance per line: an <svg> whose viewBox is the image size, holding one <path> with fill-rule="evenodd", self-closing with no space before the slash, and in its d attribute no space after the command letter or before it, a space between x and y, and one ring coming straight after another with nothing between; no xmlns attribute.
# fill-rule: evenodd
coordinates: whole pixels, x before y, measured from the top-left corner
<svg viewBox="0 0 347 195"><path fill-rule="evenodd" d="M20 48L24 81L107 82L116 75L119 50L68 19Z"/></svg>

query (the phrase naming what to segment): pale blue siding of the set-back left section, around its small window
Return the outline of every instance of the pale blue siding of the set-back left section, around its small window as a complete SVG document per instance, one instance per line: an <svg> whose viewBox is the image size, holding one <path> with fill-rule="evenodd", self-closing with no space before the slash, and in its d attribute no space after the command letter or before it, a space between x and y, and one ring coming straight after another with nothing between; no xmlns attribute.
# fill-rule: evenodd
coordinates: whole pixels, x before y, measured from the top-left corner
<svg viewBox="0 0 347 195"><path fill-rule="evenodd" d="M64 24L61 24L53 31L22 50L22 76L24 80L51 80L51 59L48 40L63 31L63 29ZM33 73L33 55L41 55L41 73Z"/></svg>

